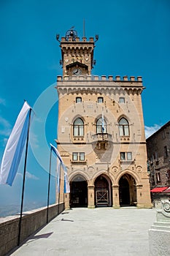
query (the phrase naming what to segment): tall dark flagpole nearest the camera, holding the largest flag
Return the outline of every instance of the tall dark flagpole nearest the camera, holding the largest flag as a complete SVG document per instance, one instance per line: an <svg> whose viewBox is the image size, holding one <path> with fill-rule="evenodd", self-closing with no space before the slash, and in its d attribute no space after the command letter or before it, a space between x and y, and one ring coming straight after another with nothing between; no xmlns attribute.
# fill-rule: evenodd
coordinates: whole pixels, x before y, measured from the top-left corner
<svg viewBox="0 0 170 256"><path fill-rule="evenodd" d="M30 121L31 121L31 108L29 110L29 121L28 121L28 131L27 131L27 138L26 138L26 155L25 155L25 162L24 162L24 170L23 170L23 189L22 189L22 197L21 197L21 205L20 205L20 222L19 222L19 232L18 232L18 246L20 245L20 233L21 233L21 224L22 224L22 216L23 216L23 196L24 196L24 189L25 189L25 180L26 180L26 162L27 162L27 154L28 154L28 140L29 140L29 128L30 128Z"/></svg>

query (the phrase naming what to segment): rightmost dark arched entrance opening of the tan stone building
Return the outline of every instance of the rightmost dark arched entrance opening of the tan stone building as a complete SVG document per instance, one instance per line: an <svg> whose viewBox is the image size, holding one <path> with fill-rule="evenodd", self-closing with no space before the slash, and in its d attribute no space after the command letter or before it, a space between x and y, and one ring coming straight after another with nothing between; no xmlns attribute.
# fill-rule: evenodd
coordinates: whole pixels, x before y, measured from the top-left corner
<svg viewBox="0 0 170 256"><path fill-rule="evenodd" d="M124 174L119 181L120 206L136 205L136 183L128 173Z"/></svg>

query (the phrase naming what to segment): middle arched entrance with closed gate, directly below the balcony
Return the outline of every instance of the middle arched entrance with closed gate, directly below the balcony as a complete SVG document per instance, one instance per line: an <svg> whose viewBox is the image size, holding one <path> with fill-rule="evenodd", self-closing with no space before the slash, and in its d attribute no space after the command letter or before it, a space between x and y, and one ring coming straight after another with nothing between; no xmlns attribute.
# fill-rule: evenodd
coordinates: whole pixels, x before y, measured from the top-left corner
<svg viewBox="0 0 170 256"><path fill-rule="evenodd" d="M95 181L95 205L111 206L112 205L112 190L111 181L107 176L101 175Z"/></svg>

